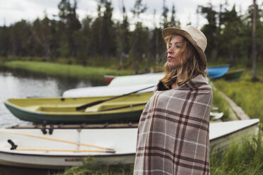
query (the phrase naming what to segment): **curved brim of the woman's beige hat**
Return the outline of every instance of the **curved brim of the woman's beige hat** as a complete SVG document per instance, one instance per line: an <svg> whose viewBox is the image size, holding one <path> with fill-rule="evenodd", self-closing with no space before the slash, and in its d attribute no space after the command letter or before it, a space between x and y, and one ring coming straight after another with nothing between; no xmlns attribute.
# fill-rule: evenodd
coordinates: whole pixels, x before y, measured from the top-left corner
<svg viewBox="0 0 263 175"><path fill-rule="evenodd" d="M197 45L197 43L193 40L192 36L185 30L181 30L180 28L165 28L163 29L162 35L163 35L163 39L165 39L165 37L170 36L170 35L182 35L183 37L185 37L187 40L189 40L189 42L191 42L191 44L194 46L194 48L197 50L199 56L200 56L200 61L202 62L202 64L204 64L204 66L206 67L206 54L204 54L203 49L201 49L201 47L199 47Z"/></svg>

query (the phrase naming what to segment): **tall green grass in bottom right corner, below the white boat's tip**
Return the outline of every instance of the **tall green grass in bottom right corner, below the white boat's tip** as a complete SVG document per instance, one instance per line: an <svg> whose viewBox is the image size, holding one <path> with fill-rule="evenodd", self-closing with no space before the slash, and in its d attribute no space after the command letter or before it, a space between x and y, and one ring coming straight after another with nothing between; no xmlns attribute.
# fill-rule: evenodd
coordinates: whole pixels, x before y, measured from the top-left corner
<svg viewBox="0 0 263 175"><path fill-rule="evenodd" d="M213 175L262 175L262 135L244 139L242 144L233 143L223 153L210 154L210 171Z"/></svg>

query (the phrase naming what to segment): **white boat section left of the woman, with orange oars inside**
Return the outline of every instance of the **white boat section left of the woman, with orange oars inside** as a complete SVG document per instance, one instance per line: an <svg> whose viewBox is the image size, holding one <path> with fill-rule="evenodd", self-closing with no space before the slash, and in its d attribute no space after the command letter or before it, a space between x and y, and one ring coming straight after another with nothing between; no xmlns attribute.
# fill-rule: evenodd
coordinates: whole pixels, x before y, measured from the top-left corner
<svg viewBox="0 0 263 175"><path fill-rule="evenodd" d="M82 165L84 159L94 164L133 164L136 135L137 128L54 129L52 135L40 129L0 129L0 164L41 169ZM10 150L8 140L18 147ZM105 152L105 147L115 152Z"/></svg>

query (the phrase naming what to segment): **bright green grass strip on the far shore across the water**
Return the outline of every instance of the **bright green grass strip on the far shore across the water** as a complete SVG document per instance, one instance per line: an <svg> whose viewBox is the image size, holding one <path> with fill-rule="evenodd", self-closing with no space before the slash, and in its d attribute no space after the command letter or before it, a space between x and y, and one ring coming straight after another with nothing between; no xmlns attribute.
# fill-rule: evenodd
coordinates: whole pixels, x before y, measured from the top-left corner
<svg viewBox="0 0 263 175"><path fill-rule="evenodd" d="M102 67L86 67L77 65L56 64L47 62L35 61L11 61L4 63L8 68L19 68L33 73L45 73L49 76L71 77L89 80L103 80L103 76L116 75L124 76L131 75L133 71L130 70L115 70Z"/></svg>

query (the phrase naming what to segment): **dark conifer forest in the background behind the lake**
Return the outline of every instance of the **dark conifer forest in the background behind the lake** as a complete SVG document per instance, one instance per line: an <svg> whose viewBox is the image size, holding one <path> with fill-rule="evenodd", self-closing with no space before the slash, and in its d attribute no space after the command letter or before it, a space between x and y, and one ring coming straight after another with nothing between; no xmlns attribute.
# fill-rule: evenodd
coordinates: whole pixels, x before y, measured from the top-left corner
<svg viewBox="0 0 263 175"><path fill-rule="evenodd" d="M256 57L262 61L263 13L262 6L256 5ZM176 6L180 8L180 6ZM161 23L148 28L141 20L147 5L136 0L131 9L136 23L131 30L131 19L122 3L122 20L112 19L114 8L110 0L99 0L97 17L86 16L78 19L77 1L62 0L58 4L57 19L36 18L33 22L18 21L10 26L0 27L0 56L4 59L19 60L23 57L42 61L57 62L63 58L66 64L94 65L114 63L134 68L139 64L158 66L165 57L165 44L161 36L163 28L180 28L175 5L168 8L163 0ZM218 10L216 10L218 9ZM207 37L206 56L210 64L242 64L252 66L252 18L254 6L244 12L227 1L219 6L200 5L196 15L204 16L207 23L201 31ZM157 17L156 17L157 18ZM191 24L191 22L189 22ZM192 24L194 25L194 24Z"/></svg>

